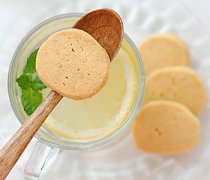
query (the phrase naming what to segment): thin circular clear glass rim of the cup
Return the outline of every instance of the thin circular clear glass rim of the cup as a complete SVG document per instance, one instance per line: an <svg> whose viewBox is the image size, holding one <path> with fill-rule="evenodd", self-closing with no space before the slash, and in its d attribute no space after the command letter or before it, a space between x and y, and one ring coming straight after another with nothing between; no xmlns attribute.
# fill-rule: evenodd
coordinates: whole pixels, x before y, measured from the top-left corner
<svg viewBox="0 0 210 180"><path fill-rule="evenodd" d="M7 87L8 87L8 95L9 95L9 101L10 101L10 105L12 107L13 112L15 113L15 116L17 117L18 121L21 123L21 125L24 123L23 118L21 117L17 106L15 105L15 100L13 97L13 94L11 92L12 89L12 84L11 84L11 72L14 68L14 62L16 59L16 56L18 54L18 52L20 51L21 47L24 45L24 43L27 41L27 39L33 35L34 32L38 31L41 27L43 27L45 24L62 19L62 18L66 18L66 17L72 17L72 18L80 18L81 16L83 16L84 13L65 13L65 14L60 14L60 15L56 15L53 17L50 17L48 19L45 19L44 21L42 21L41 23L37 24L35 27L33 27L26 35L25 37L21 40L21 42L19 43L19 45L17 46L12 60L10 62L10 66L9 66L9 71L8 71L8 82L7 82ZM89 149L92 147L98 147L100 145L104 145L107 142L109 142L112 139L115 139L116 137L118 137L118 135L122 134L122 132L124 132L127 127L129 127L131 125L131 123L133 122L134 118L136 117L141 105L142 105L142 101L143 101L143 96L144 96L144 87L145 87L145 73L144 73L144 65L143 65L143 61L141 58L141 55L136 47L136 45L134 44L134 42L130 39L130 37L124 33L124 39L128 42L129 46L131 46L137 60L138 60L138 69L140 69L140 83L139 83L139 93L140 95L137 96L137 98L135 99L135 104L134 107L131 110L131 114L130 116L127 118L127 120L123 123L122 126L120 126L119 128L117 128L116 130L114 130L113 132L111 132L108 136L105 136L101 139L97 139L94 141L90 141L90 142L71 142L71 143L76 143L76 144L80 144L79 148L78 147L69 147L66 145L61 145L58 144L56 142L52 142L50 140L47 140L46 138L43 138L39 133L35 134L35 138L50 146L50 147L57 147L57 148L61 148L61 149L67 149L67 150L74 150L74 149Z"/></svg>

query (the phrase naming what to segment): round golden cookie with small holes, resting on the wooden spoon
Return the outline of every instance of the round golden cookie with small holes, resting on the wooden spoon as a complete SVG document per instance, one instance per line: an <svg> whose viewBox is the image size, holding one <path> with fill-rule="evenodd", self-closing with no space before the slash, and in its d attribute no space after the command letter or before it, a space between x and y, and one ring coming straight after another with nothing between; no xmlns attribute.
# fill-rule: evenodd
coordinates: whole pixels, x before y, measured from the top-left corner
<svg viewBox="0 0 210 180"><path fill-rule="evenodd" d="M95 95L106 83L110 59L88 33L78 29L51 35L39 48L36 69L49 88L71 99Z"/></svg>

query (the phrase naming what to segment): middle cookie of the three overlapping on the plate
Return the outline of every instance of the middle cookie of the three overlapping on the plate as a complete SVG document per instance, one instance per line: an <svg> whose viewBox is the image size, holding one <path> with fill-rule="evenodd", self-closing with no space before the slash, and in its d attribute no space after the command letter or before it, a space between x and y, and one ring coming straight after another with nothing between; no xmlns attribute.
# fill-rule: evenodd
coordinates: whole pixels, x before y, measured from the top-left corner
<svg viewBox="0 0 210 180"><path fill-rule="evenodd" d="M155 71L146 80L144 103L172 100L199 114L207 104L207 92L198 74L188 67L168 67Z"/></svg>

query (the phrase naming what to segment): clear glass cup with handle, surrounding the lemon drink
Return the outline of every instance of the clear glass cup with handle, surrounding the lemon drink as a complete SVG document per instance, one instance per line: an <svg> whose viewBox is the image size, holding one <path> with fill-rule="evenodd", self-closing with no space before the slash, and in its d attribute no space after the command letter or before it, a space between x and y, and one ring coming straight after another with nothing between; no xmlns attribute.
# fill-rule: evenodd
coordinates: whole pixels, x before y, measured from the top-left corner
<svg viewBox="0 0 210 180"><path fill-rule="evenodd" d="M22 74L27 57L33 50L38 48L49 37L49 35L62 29L71 28L81 16L83 16L83 14L63 14L43 21L26 35L15 51L9 69L8 93L13 111L21 124L23 124L27 119L27 115L25 114L21 105L20 89L17 86L16 78ZM136 80L134 101L126 120L120 125L120 127L115 129L106 137L87 142L65 139L53 134L46 128L41 127L35 135L35 137L38 139L38 143L36 144L31 158L25 167L24 173L27 177L39 177L43 165L45 164L49 155L54 156L61 149L81 150L90 148L93 149L96 147L100 148L102 145L104 147L106 144L116 142L118 138L122 138L122 136L126 134L142 103L145 76L142 59L138 49L127 34L124 36L121 50L122 49L127 54L126 58L129 58L129 61L132 62Z"/></svg>

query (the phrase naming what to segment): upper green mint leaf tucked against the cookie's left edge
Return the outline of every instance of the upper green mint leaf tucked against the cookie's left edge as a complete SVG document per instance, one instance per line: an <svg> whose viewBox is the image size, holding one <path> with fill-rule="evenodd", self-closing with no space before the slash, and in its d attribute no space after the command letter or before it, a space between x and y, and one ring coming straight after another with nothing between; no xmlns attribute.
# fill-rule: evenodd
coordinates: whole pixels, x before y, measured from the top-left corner
<svg viewBox="0 0 210 180"><path fill-rule="evenodd" d="M23 70L24 74L36 72L36 56L37 56L38 50L39 49L36 49L35 51L33 51L31 55L28 57L26 66Z"/></svg>

